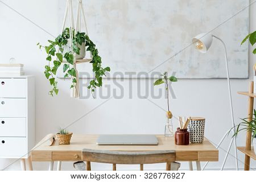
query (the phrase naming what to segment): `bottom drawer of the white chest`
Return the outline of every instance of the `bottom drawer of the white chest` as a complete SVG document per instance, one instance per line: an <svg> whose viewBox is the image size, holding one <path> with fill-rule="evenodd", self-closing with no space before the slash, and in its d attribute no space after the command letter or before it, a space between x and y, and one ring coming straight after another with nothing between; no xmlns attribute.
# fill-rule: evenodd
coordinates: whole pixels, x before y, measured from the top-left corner
<svg viewBox="0 0 256 182"><path fill-rule="evenodd" d="M0 137L0 156L23 156L27 152L27 138Z"/></svg>

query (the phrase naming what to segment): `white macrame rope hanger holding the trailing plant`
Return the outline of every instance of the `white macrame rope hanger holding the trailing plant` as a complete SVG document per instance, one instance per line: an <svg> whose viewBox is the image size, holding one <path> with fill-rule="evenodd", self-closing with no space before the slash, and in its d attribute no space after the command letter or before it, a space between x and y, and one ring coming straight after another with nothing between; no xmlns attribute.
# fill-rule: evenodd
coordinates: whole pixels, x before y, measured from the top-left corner
<svg viewBox="0 0 256 182"><path fill-rule="evenodd" d="M61 33L65 29L65 23L67 22L67 15L68 14L69 14L70 48L71 48L71 51L73 52L73 44L72 44L73 34L72 34L72 30L73 30L73 28L75 28L75 25L74 25L74 17L73 17L73 9L72 9L72 0L67 0ZM81 32L81 14L82 14L82 18L84 20L85 33L86 33L86 35L88 35L88 29L87 29L86 21L85 21L84 8L82 7L82 0L79 0L79 5L78 5L78 8L77 8L77 20L76 20L75 34L76 34L77 31ZM73 52L73 57L74 57L73 68L76 71L76 83L73 83L74 87L71 88L71 97L77 98L77 97L80 96L80 93L79 93L79 72L76 69L76 65L79 64L79 63L87 63L90 60L92 60L92 53L90 52L90 58L91 59L77 60L75 52Z"/></svg>

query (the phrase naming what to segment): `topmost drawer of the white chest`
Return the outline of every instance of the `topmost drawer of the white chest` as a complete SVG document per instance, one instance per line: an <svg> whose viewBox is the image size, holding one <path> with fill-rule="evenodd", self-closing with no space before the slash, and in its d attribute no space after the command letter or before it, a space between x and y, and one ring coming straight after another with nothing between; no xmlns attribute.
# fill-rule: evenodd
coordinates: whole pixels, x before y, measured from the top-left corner
<svg viewBox="0 0 256 182"><path fill-rule="evenodd" d="M26 98L26 78L0 78L0 98Z"/></svg>

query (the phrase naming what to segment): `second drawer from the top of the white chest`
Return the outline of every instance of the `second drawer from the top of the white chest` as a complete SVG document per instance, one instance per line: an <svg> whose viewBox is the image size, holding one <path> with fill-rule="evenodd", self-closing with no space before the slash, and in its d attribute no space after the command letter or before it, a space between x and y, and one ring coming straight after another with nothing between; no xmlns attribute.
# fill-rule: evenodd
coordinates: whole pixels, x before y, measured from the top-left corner
<svg viewBox="0 0 256 182"><path fill-rule="evenodd" d="M26 117L26 98L0 98L0 117Z"/></svg>

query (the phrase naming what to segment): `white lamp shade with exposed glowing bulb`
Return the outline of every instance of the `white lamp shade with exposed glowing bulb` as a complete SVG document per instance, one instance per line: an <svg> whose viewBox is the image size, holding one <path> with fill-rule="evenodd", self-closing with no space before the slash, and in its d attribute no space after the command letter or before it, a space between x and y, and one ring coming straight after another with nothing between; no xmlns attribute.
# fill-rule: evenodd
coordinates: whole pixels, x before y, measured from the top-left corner
<svg viewBox="0 0 256 182"><path fill-rule="evenodd" d="M212 34L199 34L192 39L192 43L195 45L197 50L205 53L210 48L210 45L212 45L212 37Z"/></svg>

